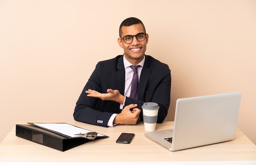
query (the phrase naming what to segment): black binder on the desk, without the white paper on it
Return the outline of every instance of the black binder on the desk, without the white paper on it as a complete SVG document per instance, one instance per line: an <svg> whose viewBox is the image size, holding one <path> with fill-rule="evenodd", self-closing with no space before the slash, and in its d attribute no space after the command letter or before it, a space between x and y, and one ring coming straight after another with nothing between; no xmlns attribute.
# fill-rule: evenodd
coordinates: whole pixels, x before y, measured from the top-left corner
<svg viewBox="0 0 256 165"><path fill-rule="evenodd" d="M16 125L16 136L63 152L92 141L83 137L68 138L62 134L57 134L34 125L20 124ZM97 136L96 139L106 137L108 136Z"/></svg>

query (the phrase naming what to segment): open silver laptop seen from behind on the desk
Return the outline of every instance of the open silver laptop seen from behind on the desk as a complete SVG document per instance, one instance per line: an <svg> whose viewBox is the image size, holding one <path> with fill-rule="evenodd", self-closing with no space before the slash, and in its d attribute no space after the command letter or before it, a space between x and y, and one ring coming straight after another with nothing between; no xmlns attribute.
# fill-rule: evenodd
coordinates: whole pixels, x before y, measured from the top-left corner
<svg viewBox="0 0 256 165"><path fill-rule="evenodd" d="M170 151L233 140L240 100L241 92L180 98L173 129L145 136Z"/></svg>

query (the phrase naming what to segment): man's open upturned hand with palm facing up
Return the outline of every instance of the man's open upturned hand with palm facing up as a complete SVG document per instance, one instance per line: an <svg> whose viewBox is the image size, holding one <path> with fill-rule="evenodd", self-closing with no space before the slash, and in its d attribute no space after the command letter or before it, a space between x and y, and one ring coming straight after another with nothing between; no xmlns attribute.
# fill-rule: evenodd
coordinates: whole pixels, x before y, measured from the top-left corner
<svg viewBox="0 0 256 165"><path fill-rule="evenodd" d="M85 91L89 97L96 97L100 98L101 100L111 100L115 101L117 103L123 104L124 103L124 96L120 94L119 90L112 90L108 89L108 93L102 94L99 93L98 91L88 89L88 91Z"/></svg>

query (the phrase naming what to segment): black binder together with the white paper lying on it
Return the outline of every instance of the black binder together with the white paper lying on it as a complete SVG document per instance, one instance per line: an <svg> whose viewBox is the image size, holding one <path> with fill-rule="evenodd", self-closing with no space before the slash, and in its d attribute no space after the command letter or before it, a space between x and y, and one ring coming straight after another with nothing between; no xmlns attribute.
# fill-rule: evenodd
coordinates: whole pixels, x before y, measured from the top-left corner
<svg viewBox="0 0 256 165"><path fill-rule="evenodd" d="M29 123L16 125L16 136L60 151L88 143L93 139L84 138L75 133L87 134L91 131L67 123ZM107 138L97 134L95 138Z"/></svg>

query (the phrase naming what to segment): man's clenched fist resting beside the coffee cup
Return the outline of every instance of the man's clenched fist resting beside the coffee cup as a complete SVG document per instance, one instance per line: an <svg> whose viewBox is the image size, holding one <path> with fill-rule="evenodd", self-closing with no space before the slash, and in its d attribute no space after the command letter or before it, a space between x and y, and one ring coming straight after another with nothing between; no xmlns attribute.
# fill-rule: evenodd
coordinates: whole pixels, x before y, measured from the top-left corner
<svg viewBox="0 0 256 165"><path fill-rule="evenodd" d="M136 124L141 110L135 107L137 107L137 104L130 104L124 107L121 113L115 117L113 124Z"/></svg>

